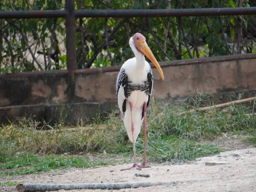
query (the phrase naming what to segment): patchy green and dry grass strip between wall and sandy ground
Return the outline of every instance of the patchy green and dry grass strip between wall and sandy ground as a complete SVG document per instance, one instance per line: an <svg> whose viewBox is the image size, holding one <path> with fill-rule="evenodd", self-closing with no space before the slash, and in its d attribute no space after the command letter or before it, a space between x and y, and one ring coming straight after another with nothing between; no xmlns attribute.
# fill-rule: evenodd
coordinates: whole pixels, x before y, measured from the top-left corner
<svg viewBox="0 0 256 192"><path fill-rule="evenodd" d="M214 141L222 135L251 135L245 143L255 145L256 117L250 115L255 113L254 102L197 111L198 107L210 104L209 95L179 104L152 100L147 115L149 160L177 162L219 153L222 149L205 141ZM106 156L96 162L86 155L77 156L81 152L106 152L108 156L122 157L121 161L132 161L132 143L119 112L113 112L106 119L97 117L94 121L91 125L76 127L44 123L43 128L38 129L38 122L23 118L15 124L1 125L0 175L113 164ZM138 158L143 154L142 136L143 131L136 144Z"/></svg>

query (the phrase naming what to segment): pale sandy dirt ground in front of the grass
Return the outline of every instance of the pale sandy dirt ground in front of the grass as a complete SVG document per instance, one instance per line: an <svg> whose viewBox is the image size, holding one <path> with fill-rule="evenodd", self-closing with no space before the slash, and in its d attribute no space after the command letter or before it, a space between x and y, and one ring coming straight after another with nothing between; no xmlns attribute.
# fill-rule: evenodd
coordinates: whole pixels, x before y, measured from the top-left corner
<svg viewBox="0 0 256 192"><path fill-rule="evenodd" d="M256 148L248 148L240 139L220 141L230 149L215 156L198 158L179 164L151 164L142 170L123 170L131 164L98 168L71 168L41 174L0 178L18 183L128 183L168 181L170 185L139 187L135 189L81 191L256 191ZM148 177L141 177L139 175ZM0 191L15 191L15 187L0 187ZM60 190L59 192L64 192Z"/></svg>

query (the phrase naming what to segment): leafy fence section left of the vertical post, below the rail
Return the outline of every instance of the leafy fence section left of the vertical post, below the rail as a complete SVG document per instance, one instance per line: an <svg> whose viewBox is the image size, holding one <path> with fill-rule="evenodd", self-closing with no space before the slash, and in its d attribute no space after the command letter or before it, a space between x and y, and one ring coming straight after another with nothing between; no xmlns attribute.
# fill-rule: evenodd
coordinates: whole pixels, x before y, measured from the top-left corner
<svg viewBox="0 0 256 192"><path fill-rule="evenodd" d="M5 20L1 72L65 69L63 19Z"/></svg>

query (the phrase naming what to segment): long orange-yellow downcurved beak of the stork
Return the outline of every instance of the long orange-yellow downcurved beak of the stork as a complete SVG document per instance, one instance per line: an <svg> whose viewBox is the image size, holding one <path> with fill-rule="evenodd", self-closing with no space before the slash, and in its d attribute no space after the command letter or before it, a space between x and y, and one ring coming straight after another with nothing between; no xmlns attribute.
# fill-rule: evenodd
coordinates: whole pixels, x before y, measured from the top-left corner
<svg viewBox="0 0 256 192"><path fill-rule="evenodd" d="M139 48L141 50L141 52L148 57L148 59L150 59L150 61L155 65L156 69L158 69L158 72L160 73L162 79L164 79L164 73L162 72L162 69L158 63L158 61L156 61L156 57L154 57L152 51L150 50L150 47L148 46L147 42L145 40L141 40L141 42L139 42Z"/></svg>

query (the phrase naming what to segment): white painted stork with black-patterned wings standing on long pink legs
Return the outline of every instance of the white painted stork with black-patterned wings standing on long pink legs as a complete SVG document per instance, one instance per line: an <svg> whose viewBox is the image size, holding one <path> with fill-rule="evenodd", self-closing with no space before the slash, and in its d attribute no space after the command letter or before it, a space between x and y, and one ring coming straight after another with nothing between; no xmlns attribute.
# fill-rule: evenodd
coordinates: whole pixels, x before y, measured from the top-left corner
<svg viewBox="0 0 256 192"><path fill-rule="evenodd" d="M146 38L142 34L134 34L129 40L129 45L135 57L125 61L119 71L116 85L117 101L121 111L121 117L123 118L127 130L127 135L129 140L133 142L133 166L131 166L131 168L141 169L150 167L147 162L146 154L146 110L150 102L153 88L152 69L144 56L148 57L156 66L162 79L164 79L164 73L148 47ZM135 142L139 135L142 121L144 131L144 158L142 164L137 164Z"/></svg>

